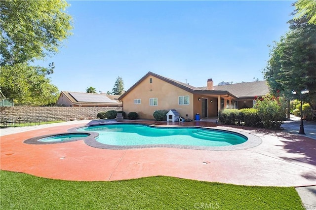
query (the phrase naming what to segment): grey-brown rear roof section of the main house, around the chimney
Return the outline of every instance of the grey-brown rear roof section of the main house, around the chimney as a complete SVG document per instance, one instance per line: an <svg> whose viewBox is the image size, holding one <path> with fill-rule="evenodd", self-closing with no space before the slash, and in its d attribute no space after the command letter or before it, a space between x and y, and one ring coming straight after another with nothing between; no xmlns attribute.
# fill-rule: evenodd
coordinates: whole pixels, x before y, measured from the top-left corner
<svg viewBox="0 0 316 210"><path fill-rule="evenodd" d="M206 87L199 87L206 90ZM264 96L269 93L267 81L242 82L230 85L217 85L214 90L227 90L238 98L253 98L255 96Z"/></svg>

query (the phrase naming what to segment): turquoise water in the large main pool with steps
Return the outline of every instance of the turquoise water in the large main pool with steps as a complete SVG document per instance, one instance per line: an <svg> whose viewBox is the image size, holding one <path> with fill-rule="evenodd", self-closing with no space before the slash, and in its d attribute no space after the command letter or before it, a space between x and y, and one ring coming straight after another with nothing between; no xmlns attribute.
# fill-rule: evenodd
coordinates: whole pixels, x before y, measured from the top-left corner
<svg viewBox="0 0 316 210"><path fill-rule="evenodd" d="M228 146L243 143L243 135L195 127L152 127L140 124L98 125L77 131L99 133L96 139L109 145L180 144L194 146Z"/></svg>

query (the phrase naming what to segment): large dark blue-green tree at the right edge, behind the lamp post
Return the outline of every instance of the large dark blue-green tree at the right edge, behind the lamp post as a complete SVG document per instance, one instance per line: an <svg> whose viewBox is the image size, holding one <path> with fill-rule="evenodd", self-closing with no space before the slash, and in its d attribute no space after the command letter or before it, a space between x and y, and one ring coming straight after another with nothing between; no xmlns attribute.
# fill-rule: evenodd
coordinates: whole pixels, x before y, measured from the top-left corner
<svg viewBox="0 0 316 210"><path fill-rule="evenodd" d="M290 31L275 42L264 71L272 94L293 98L292 90L310 90L306 96L316 108L316 25L308 24L306 16L290 20Z"/></svg>

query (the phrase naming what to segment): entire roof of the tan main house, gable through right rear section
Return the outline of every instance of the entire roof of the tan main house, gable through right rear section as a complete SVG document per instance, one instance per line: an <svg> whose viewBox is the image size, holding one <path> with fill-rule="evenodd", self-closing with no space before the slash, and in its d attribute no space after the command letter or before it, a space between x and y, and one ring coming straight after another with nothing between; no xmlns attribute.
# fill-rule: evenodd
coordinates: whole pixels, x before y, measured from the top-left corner
<svg viewBox="0 0 316 210"><path fill-rule="evenodd" d="M230 85L217 85L214 86L214 90L207 90L207 87L194 87L183 82L179 82L174 79L170 79L164 76L160 76L156 73L149 71L142 78L140 78L133 86L131 86L118 100L124 98L128 92L134 89L141 81L143 81L149 75L155 76L165 82L168 82L176 87L186 90L190 93L196 94L210 94L210 95L229 95L237 99L240 98L253 98L254 96L264 96L269 93L269 87L266 81L255 82L242 82Z"/></svg>

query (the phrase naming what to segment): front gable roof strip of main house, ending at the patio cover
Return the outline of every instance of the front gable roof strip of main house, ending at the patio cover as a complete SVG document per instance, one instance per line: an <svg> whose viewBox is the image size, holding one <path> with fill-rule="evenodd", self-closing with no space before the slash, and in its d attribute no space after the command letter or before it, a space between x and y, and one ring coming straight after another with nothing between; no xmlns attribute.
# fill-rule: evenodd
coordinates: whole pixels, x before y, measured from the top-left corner
<svg viewBox="0 0 316 210"><path fill-rule="evenodd" d="M230 95L232 97L235 97L237 98L235 95L233 95L232 93L230 93L229 91L227 90L202 90L200 88L197 88L197 87L194 87L192 85L188 85L186 83L183 83L183 82L179 82L179 81L176 81L174 79L170 79L170 78L167 78L167 77L164 77L164 76L160 76L156 73L153 73L151 71L149 71L147 74L145 74L142 78L140 78L133 86L131 86L127 91L125 91L124 94L122 94L118 100L121 100L122 98L124 98L124 96L129 93L132 89L134 89L141 81L143 81L146 77L148 77L149 75L152 75L152 76L155 76L165 82L168 82L176 87L179 87L183 90L186 90L190 93L196 93L196 94L211 94L211 95Z"/></svg>

